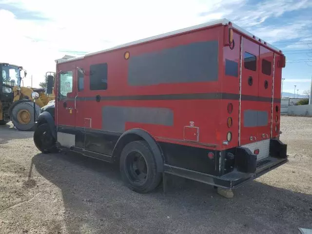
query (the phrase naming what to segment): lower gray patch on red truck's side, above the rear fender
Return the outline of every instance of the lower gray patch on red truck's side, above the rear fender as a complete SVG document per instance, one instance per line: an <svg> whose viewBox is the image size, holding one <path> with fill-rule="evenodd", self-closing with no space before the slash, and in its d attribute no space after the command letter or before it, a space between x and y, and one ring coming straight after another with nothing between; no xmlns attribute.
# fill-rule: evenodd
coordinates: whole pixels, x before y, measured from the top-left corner
<svg viewBox="0 0 312 234"><path fill-rule="evenodd" d="M102 129L123 133L126 122L172 126L174 113L168 108L103 106Z"/></svg>

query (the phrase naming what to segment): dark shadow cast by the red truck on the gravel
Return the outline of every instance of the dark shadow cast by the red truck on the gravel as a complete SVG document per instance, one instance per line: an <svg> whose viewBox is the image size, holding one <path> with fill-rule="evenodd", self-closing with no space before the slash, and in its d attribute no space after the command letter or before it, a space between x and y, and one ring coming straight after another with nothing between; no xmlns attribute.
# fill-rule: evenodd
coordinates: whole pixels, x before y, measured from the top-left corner
<svg viewBox="0 0 312 234"><path fill-rule="evenodd" d="M298 233L312 228L312 195L259 182L234 191L233 199L175 176L168 192L126 188L118 168L72 154L38 154L32 164L62 191L69 233ZM89 232L86 232L88 230Z"/></svg>

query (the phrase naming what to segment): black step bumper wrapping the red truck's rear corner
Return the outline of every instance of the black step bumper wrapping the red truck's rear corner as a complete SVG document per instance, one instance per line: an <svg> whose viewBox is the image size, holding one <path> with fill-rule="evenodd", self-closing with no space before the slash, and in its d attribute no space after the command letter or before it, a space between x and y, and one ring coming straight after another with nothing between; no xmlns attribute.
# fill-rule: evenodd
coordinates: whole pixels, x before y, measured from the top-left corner
<svg viewBox="0 0 312 234"><path fill-rule="evenodd" d="M261 163L262 161L263 164ZM224 176L212 176L209 174L195 172L192 170L167 164L164 165L164 172L167 174L181 176L221 188L234 189L241 185L243 182L262 176L263 174L281 166L287 161L287 158L268 157L258 162L260 163L260 165L256 168L255 173L244 173L234 170L233 172L225 174Z"/></svg>

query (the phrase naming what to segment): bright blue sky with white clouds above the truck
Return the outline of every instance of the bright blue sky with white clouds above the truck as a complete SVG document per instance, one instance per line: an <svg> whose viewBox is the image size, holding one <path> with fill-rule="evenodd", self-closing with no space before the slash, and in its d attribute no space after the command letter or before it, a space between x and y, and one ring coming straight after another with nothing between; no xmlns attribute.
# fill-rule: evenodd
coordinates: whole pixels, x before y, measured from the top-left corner
<svg viewBox="0 0 312 234"><path fill-rule="evenodd" d="M55 59L81 56L227 18L281 49L283 91L302 94L312 78L312 0L0 0L0 62L27 70L38 86Z"/></svg>

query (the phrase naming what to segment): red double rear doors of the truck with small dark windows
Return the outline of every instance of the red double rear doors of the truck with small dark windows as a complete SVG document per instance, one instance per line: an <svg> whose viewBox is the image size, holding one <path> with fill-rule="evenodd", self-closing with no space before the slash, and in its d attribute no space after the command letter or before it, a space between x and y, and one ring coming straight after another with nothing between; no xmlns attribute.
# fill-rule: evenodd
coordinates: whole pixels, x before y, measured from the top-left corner
<svg viewBox="0 0 312 234"><path fill-rule="evenodd" d="M274 53L252 40L242 40L239 145L269 156L272 123Z"/></svg>

